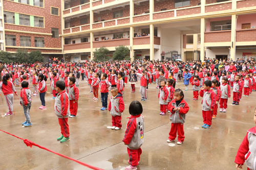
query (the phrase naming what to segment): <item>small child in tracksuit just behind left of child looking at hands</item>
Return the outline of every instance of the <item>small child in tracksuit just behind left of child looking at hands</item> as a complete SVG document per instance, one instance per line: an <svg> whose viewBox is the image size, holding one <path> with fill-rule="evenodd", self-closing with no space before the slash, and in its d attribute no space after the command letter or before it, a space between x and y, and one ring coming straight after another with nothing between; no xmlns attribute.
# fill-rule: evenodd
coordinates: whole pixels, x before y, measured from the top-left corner
<svg viewBox="0 0 256 170"><path fill-rule="evenodd" d="M158 99L159 99L159 104L160 104L160 115L165 115L166 114L166 106L168 104L167 98L168 98L168 90L166 88L166 82L162 81L161 82L161 88L159 89L158 93Z"/></svg>

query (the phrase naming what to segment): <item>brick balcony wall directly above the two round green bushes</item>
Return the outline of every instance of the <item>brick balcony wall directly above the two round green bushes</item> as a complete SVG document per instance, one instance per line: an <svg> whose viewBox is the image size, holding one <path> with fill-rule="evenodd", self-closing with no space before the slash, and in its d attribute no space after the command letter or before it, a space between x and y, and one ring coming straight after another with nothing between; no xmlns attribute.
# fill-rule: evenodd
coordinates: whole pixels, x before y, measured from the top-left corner
<svg viewBox="0 0 256 170"><path fill-rule="evenodd" d="M119 46L119 45L130 45L130 38L122 38L122 39L112 39L105 41L93 41L94 48L100 47L111 47L111 46Z"/></svg>

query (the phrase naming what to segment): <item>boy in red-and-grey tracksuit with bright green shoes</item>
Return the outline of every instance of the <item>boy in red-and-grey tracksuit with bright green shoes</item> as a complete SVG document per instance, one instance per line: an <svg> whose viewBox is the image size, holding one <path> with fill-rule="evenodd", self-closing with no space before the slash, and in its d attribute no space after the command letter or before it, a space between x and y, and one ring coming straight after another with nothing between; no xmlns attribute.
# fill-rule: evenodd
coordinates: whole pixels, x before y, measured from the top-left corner
<svg viewBox="0 0 256 170"><path fill-rule="evenodd" d="M58 117L61 136L57 138L57 141L60 143L69 141L69 95L65 91L65 82L57 81L56 82L56 91L58 92L55 104L54 111Z"/></svg>

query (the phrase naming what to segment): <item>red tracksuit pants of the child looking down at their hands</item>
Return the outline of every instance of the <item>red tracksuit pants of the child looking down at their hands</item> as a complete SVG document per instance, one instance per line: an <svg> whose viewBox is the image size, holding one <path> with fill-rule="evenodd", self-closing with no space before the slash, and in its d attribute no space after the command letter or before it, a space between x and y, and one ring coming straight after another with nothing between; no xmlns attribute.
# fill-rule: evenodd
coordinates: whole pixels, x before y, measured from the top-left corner
<svg viewBox="0 0 256 170"><path fill-rule="evenodd" d="M184 129L181 123L172 123L169 132L169 140L175 140L178 133L178 141L184 141Z"/></svg>

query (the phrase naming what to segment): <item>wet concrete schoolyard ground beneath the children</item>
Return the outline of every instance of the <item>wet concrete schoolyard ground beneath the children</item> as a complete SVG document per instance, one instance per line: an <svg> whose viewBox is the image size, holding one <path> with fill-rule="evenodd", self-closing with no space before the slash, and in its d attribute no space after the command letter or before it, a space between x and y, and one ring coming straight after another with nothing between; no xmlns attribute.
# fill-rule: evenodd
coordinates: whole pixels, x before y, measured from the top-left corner
<svg viewBox="0 0 256 170"><path fill-rule="evenodd" d="M234 157L239 145L247 130L255 126L253 109L256 92L248 98L243 97L239 106L232 106L232 100L229 99L227 113L218 112L217 119L212 120L212 128L202 129L201 98L198 101L192 100L190 86L184 92L184 99L190 107L184 124L185 141L181 145L173 143L170 146L166 142L170 130L169 116L159 115L158 89L155 87L155 84L149 86L148 101L142 102L145 134L138 169L235 169ZM177 88L184 89L184 85L178 83ZM19 94L19 88L16 89ZM48 86L47 110L39 110L39 96L33 96L30 111L32 127L22 127L25 120L23 107L19 105L19 97L15 96L14 115L0 117L0 129L103 169L123 169L128 165L129 157L122 138L126 117L129 117L128 107L133 100L140 100L139 83L136 85L136 93L131 93L129 84L125 85L123 128L115 131L107 128L111 126L109 111L100 111L101 102L93 102L93 94L88 93L89 86L85 81L81 82L78 116L69 118L71 139L66 143L56 140L60 136L60 127L49 89ZM7 111L1 94L0 114L4 115ZM87 169L37 147L29 148L13 136L3 132L0 134L0 169Z"/></svg>

